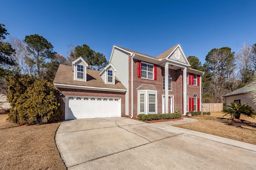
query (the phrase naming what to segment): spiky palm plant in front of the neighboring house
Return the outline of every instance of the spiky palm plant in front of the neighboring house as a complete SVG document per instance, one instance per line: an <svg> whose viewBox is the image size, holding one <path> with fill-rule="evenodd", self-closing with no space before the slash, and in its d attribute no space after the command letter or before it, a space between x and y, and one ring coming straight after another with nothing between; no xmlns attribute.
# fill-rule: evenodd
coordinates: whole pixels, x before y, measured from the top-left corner
<svg viewBox="0 0 256 170"><path fill-rule="evenodd" d="M247 117L254 118L256 116L256 112L252 108L252 106L248 106L247 104L237 104L236 102L231 102L231 106L224 106L223 112L225 115L229 115L230 119L240 119L240 115L245 115Z"/></svg>

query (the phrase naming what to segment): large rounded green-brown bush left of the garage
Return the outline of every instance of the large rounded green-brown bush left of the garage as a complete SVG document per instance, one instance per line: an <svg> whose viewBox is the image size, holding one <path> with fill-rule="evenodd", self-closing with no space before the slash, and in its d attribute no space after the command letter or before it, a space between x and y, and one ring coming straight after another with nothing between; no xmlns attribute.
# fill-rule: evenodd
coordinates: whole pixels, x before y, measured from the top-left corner
<svg viewBox="0 0 256 170"><path fill-rule="evenodd" d="M58 90L46 80L28 75L10 76L8 120L19 124L43 124L62 116L56 95Z"/></svg>

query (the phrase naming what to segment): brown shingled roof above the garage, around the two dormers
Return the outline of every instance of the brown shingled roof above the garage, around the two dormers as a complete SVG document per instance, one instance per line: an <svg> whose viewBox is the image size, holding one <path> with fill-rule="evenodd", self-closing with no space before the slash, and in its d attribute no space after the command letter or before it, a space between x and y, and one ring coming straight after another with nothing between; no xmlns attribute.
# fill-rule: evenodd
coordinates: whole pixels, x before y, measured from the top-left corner
<svg viewBox="0 0 256 170"><path fill-rule="evenodd" d="M115 84L105 84L102 80L100 71L98 70L90 70L87 69L87 78L86 82L84 81L76 81L74 80L74 72L72 72L72 66L67 66L60 64L55 78L53 80L54 85L70 85L76 87L92 87L97 90L97 88L104 88L104 89L120 89L122 91L126 91L124 85L115 77ZM104 90L102 90L104 91Z"/></svg>

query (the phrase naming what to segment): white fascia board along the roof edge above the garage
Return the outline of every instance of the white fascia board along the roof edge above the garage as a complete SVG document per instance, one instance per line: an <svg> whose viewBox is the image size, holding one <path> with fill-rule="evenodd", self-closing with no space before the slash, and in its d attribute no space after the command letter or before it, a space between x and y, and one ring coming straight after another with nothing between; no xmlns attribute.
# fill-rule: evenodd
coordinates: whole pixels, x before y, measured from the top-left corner
<svg viewBox="0 0 256 170"><path fill-rule="evenodd" d="M72 88L72 89L84 89L84 90L98 90L98 91L107 91L107 92L126 92L126 89L118 88L102 88L102 87L92 87L92 86L77 86L69 84L53 84L56 88Z"/></svg>

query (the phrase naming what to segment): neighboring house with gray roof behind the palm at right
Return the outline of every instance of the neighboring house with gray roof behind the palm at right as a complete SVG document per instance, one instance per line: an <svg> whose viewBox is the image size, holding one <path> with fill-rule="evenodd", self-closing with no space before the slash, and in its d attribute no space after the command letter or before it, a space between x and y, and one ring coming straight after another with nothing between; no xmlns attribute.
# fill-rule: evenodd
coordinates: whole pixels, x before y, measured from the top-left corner
<svg viewBox="0 0 256 170"><path fill-rule="evenodd" d="M252 106L254 110L256 110L256 107L252 102L252 100L245 95L244 93L245 88L246 86L224 95L223 97L225 98L225 105L226 106L231 105L230 104L231 102L236 102L240 104L247 103L249 106Z"/></svg>

